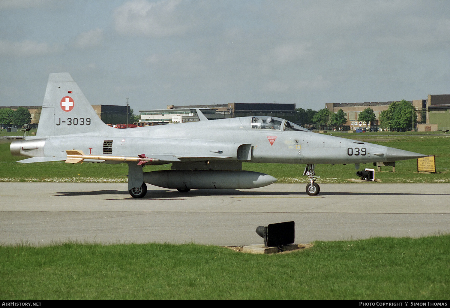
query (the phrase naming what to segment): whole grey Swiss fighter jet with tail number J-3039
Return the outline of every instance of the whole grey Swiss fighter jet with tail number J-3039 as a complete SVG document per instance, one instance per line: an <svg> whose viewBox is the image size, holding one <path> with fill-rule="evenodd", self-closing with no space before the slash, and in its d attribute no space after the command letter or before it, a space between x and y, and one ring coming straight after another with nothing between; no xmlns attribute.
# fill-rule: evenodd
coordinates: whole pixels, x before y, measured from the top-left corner
<svg viewBox="0 0 450 308"><path fill-rule="evenodd" d="M242 162L305 164L308 195L317 195L315 164L391 162L427 155L317 134L281 118L255 116L116 129L104 124L68 73L53 73L45 91L36 136L11 143L20 163L103 162L128 164L128 190L135 198L145 183L190 189L248 189L277 179L242 170ZM147 164L171 170L143 172ZM358 167L359 168L359 167Z"/></svg>

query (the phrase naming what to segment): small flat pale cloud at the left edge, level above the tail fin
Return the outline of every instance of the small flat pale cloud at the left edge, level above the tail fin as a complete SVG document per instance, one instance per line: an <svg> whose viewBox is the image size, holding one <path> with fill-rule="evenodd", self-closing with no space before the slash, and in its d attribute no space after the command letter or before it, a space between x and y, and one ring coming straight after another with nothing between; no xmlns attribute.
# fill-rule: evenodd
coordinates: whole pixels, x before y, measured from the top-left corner
<svg viewBox="0 0 450 308"><path fill-rule="evenodd" d="M36 41L0 41L0 56L26 58L52 54L62 49L63 47L59 45L49 46L47 43L38 43Z"/></svg>

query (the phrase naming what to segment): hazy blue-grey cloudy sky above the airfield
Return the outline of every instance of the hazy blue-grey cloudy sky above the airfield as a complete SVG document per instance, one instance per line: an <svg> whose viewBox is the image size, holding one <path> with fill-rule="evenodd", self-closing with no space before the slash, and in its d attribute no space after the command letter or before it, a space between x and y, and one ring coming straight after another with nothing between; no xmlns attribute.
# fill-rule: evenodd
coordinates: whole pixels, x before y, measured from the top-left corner
<svg viewBox="0 0 450 308"><path fill-rule="evenodd" d="M0 0L0 105L69 72L91 104L325 103L450 94L450 1Z"/></svg>

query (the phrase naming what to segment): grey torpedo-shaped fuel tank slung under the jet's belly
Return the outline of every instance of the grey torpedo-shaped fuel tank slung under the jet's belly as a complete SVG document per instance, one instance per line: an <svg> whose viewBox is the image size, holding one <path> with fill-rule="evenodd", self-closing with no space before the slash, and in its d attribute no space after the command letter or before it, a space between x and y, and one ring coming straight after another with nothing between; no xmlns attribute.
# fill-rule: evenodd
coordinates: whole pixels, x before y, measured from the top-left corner
<svg viewBox="0 0 450 308"><path fill-rule="evenodd" d="M144 172L144 182L159 187L189 189L249 189L270 185L268 174L242 170L164 170Z"/></svg>

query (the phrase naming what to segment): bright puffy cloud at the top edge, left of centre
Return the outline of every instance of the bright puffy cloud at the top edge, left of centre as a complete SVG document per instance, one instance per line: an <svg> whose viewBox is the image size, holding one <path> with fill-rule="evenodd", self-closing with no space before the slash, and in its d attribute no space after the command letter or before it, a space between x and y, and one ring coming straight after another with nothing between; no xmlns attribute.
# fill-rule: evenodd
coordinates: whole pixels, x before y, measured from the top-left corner
<svg viewBox="0 0 450 308"><path fill-rule="evenodd" d="M121 34L164 37L180 35L189 29L184 20L184 0L128 1L114 12L116 31Z"/></svg>

